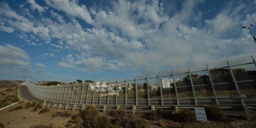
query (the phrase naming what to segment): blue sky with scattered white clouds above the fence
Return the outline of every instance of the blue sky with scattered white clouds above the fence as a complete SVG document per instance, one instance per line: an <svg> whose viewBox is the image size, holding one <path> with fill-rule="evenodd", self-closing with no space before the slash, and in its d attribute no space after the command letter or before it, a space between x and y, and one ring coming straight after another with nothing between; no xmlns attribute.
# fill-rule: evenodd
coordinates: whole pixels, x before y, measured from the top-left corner
<svg viewBox="0 0 256 128"><path fill-rule="evenodd" d="M116 80L255 55L241 29L256 23L255 7L256 0L0 0L0 80Z"/></svg>

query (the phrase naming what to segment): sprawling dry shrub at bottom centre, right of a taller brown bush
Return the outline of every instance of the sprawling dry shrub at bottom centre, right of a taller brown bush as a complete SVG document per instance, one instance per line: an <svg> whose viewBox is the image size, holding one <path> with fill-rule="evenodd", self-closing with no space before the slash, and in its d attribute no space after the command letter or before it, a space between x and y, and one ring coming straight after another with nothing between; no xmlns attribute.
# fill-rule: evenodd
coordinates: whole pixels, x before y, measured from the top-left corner
<svg viewBox="0 0 256 128"><path fill-rule="evenodd" d="M126 110L121 109L113 112L113 122L117 126L122 126L124 128L145 128L145 120L142 118L135 117L131 113L127 113Z"/></svg>

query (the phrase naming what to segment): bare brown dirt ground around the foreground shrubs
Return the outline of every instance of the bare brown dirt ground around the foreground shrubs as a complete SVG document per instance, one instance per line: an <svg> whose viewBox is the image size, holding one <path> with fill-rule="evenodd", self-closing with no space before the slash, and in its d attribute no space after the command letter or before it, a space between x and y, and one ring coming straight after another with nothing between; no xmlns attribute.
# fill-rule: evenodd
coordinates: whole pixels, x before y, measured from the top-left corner
<svg viewBox="0 0 256 128"><path fill-rule="evenodd" d="M25 107L26 103L16 104L17 106ZM32 108L22 108L9 112L10 108L0 111L0 122L4 125L4 128L29 128L31 126L53 124L53 128L66 128L66 124L71 120L71 117L52 117L57 112L64 112L65 110L50 109L49 112L39 114L39 110L33 112ZM66 110L68 113L75 115L79 111ZM102 113L103 114L103 113ZM143 115L136 115L136 117L143 117ZM146 120L147 128L202 128L201 122L190 122L188 124L182 124L179 122L157 119L154 121ZM244 119L230 119L230 121L207 121L204 122L204 128L256 128L256 120L247 121Z"/></svg>

